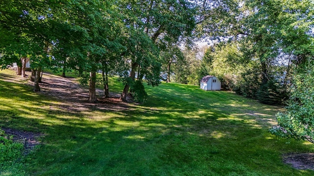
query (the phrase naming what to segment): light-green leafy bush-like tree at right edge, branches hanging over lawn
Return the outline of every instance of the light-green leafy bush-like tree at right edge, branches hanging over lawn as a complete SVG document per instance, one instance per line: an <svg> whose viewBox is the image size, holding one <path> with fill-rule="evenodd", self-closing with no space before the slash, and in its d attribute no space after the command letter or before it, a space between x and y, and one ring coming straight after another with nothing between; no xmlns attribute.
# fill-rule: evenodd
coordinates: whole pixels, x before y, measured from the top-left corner
<svg viewBox="0 0 314 176"><path fill-rule="evenodd" d="M313 56L312 56L313 58ZM291 95L285 112L277 113L278 126L270 132L285 138L314 143L314 65L308 63L295 73Z"/></svg>

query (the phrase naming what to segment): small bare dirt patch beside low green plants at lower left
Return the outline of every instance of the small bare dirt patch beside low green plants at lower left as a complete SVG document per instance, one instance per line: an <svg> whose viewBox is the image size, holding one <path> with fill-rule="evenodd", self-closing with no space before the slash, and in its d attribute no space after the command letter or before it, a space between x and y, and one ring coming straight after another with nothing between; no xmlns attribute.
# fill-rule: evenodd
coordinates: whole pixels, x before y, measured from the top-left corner
<svg viewBox="0 0 314 176"><path fill-rule="evenodd" d="M25 154L28 154L31 150L34 149L36 145L40 144L37 138L43 135L40 133L25 132L25 131L13 130L9 128L1 128L1 129L4 130L5 134L13 136L13 141L22 143L24 145Z"/></svg>

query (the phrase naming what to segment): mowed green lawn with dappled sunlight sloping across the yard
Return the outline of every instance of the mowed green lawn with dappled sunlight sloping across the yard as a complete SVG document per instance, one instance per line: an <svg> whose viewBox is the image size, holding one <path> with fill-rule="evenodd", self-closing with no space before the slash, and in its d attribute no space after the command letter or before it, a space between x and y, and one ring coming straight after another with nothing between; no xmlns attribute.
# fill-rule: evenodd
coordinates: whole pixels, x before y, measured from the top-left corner
<svg viewBox="0 0 314 176"><path fill-rule="evenodd" d="M162 83L146 86L148 101L127 110L99 108L109 106L103 104L69 111L60 108L62 100L34 93L23 81L7 82L13 77L12 71L0 71L0 127L44 134L37 149L21 159L26 175L314 175L283 163L282 154L313 153L314 147L268 132L279 107L231 92ZM111 89L122 91L115 80ZM13 176L13 169L2 173L10 172Z"/></svg>

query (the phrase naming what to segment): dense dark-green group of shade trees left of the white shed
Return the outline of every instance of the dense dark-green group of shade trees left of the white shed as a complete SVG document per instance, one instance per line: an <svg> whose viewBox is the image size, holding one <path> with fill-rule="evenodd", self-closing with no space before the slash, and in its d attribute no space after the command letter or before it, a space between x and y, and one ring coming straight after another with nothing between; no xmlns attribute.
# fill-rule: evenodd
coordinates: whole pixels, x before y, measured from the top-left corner
<svg viewBox="0 0 314 176"><path fill-rule="evenodd" d="M1 66L17 63L24 72L29 59L34 91L44 67L61 67L64 76L76 69L89 82L91 102L96 72L103 72L105 96L108 74L118 74L125 101L130 88L145 95L143 79L160 83L159 53L191 35L195 11L187 0L2 0Z"/></svg>

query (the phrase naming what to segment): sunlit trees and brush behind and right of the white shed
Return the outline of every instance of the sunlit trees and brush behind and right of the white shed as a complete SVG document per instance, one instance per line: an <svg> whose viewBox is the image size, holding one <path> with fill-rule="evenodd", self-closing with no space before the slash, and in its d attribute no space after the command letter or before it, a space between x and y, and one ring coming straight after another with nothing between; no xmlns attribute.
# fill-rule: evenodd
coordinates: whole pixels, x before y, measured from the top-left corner
<svg viewBox="0 0 314 176"><path fill-rule="evenodd" d="M195 33L215 43L184 50L184 61L173 66L175 81L199 85L203 76L215 75L225 89L282 104L293 76L313 64L311 0L203 1L199 10Z"/></svg>

